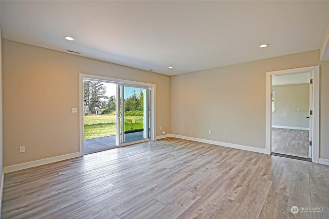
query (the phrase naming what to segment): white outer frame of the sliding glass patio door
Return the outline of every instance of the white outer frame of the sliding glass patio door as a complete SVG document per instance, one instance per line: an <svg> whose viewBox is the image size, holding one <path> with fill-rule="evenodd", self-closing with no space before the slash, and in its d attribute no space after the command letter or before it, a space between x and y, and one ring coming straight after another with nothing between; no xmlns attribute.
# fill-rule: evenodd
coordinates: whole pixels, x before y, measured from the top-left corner
<svg viewBox="0 0 329 219"><path fill-rule="evenodd" d="M127 85L136 85L136 86L147 86L151 87L151 103L150 106L153 109L151 112L151 136L150 139L142 139L138 141L132 141L132 142L127 142L120 144L118 147L124 147L130 144L135 144L139 142L145 142L149 140L155 140L155 127L156 127L156 108L155 108L155 95L156 95L156 85L155 84L150 84L150 83L144 83L144 82L138 82L138 81L130 81L130 80L123 80L123 79L116 79L116 78L108 78L108 77L103 77L103 76L96 76L96 75L87 75L87 74L79 74L79 141L80 141L80 156L84 156L84 126L83 126L83 80L84 79L90 79L93 81L99 81L99 82L104 82L104 83L115 83L117 84L127 84ZM118 93L118 89L117 89ZM118 94L117 94L118 95ZM119 98L119 96L117 96ZM118 120L118 116L117 116ZM118 136L117 136L118 138Z"/></svg>

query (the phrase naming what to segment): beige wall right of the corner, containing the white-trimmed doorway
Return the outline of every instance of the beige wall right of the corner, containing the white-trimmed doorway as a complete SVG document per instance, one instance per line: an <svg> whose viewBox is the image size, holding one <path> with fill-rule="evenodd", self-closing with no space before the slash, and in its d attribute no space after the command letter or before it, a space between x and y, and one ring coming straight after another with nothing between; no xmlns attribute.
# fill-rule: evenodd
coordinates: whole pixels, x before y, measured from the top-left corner
<svg viewBox="0 0 329 219"><path fill-rule="evenodd" d="M328 159L329 61L319 60L314 50L173 76L172 133L265 149L266 72L320 65L320 158Z"/></svg>

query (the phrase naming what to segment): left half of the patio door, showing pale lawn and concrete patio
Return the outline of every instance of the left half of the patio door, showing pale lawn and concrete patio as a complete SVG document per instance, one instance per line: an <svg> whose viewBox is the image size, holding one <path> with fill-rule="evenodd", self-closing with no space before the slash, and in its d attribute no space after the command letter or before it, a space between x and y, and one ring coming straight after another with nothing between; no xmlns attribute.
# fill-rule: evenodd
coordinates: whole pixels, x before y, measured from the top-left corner
<svg viewBox="0 0 329 219"><path fill-rule="evenodd" d="M83 81L84 154L117 146L117 85Z"/></svg>

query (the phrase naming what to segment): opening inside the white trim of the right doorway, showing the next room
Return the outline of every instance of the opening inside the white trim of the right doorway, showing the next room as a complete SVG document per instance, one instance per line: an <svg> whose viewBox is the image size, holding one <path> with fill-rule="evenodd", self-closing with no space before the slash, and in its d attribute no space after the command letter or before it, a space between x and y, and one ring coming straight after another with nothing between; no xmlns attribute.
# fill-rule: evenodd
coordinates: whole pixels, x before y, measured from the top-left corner
<svg viewBox="0 0 329 219"><path fill-rule="evenodd" d="M272 76L272 153L311 157L311 78L311 72Z"/></svg>

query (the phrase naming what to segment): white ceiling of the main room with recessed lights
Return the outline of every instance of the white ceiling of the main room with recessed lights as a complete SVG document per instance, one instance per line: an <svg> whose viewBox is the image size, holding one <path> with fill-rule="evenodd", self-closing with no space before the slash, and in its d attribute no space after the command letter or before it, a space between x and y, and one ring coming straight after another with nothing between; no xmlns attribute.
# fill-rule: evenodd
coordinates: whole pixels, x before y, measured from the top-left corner
<svg viewBox="0 0 329 219"><path fill-rule="evenodd" d="M328 11L329 1L1 1L1 28L5 39L176 75L319 49Z"/></svg>

